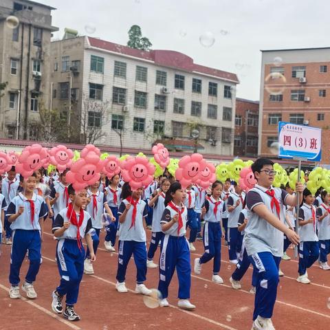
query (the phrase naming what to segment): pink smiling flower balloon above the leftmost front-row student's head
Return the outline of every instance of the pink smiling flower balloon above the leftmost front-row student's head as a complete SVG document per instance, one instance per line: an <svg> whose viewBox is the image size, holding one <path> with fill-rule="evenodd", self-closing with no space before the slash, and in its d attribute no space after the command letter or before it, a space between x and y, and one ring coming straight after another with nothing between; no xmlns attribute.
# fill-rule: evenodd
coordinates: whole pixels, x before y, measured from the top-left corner
<svg viewBox="0 0 330 330"><path fill-rule="evenodd" d="M21 155L19 155L19 160L16 165L17 172L25 178L30 177L34 171L43 166L45 157L45 148L43 148L40 144L25 146Z"/></svg>

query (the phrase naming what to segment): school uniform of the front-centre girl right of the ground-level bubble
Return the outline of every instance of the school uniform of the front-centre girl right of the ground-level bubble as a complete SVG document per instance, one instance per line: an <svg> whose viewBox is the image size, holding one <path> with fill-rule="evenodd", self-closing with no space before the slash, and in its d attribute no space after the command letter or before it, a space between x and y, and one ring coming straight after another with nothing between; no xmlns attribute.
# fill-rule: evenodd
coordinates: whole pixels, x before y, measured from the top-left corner
<svg viewBox="0 0 330 330"><path fill-rule="evenodd" d="M186 240L186 223L188 212L186 206L176 206L172 201L166 206L160 223L168 223L175 214L179 221L164 232L162 252L159 257L159 292L162 298L168 297L168 285L173 277L175 268L179 280L179 299L190 298L190 251Z"/></svg>

